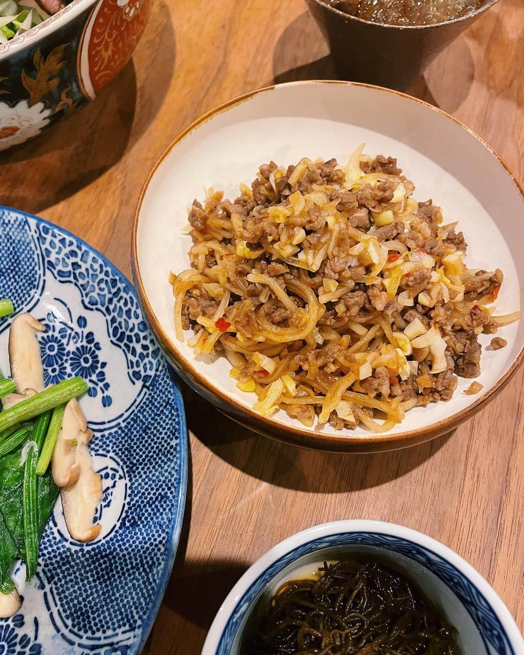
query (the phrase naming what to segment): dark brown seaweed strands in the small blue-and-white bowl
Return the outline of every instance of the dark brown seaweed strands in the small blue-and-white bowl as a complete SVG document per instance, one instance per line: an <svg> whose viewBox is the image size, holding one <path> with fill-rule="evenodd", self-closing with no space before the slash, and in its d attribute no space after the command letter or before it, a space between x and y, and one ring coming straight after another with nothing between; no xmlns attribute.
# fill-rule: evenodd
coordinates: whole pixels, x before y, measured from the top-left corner
<svg viewBox="0 0 524 655"><path fill-rule="evenodd" d="M249 655L458 655L453 628L407 578L375 561L324 563L272 597Z"/></svg>

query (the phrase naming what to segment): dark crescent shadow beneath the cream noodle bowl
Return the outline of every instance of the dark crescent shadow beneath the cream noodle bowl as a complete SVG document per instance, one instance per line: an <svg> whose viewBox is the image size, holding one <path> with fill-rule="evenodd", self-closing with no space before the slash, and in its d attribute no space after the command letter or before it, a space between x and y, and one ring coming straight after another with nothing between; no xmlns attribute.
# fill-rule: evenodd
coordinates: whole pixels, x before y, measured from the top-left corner
<svg viewBox="0 0 524 655"><path fill-rule="evenodd" d="M383 485L421 466L453 436L449 432L388 453L323 453L255 434L187 387L183 396L189 430L217 457L264 482L309 493L344 493Z"/></svg>

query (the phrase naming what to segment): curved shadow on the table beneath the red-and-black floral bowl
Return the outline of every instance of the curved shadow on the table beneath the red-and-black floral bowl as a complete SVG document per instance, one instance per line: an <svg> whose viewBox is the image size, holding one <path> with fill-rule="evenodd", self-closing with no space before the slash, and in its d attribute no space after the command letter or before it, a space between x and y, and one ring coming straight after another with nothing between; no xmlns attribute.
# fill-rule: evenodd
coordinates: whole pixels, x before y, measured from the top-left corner
<svg viewBox="0 0 524 655"><path fill-rule="evenodd" d="M172 23L161 20L162 12L168 12L164 2L150 19L151 29L164 45L147 60L155 75L141 71L138 86L130 60L95 100L40 138L0 153L0 176L16 181L9 187L0 183L0 204L38 214L100 178L140 139L162 107L174 74L175 34ZM138 106L137 98L141 99Z"/></svg>

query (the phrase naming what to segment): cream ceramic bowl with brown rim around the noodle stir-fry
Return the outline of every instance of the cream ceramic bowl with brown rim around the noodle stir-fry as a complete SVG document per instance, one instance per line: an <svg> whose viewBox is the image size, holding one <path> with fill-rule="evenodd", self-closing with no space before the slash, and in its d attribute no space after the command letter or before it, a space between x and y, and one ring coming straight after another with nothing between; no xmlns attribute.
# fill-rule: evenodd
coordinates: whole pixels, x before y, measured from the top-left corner
<svg viewBox="0 0 524 655"><path fill-rule="evenodd" d="M191 237L182 234L193 198L205 187L238 195L258 166L301 157L344 162L365 141L371 155L398 158L416 185L415 198L443 208L447 222L459 220L468 241L470 267L500 267L505 281L498 314L524 305L524 196L508 166L474 132L449 115L398 92L353 83L282 84L237 98L203 116L160 157L142 191L132 238L134 280L149 325L172 364L200 394L234 419L263 434L318 449L359 451L405 447L448 432L492 398L524 360L524 321L500 331L508 346L483 350L483 390L464 394L459 379L449 402L417 407L383 435L366 428L337 431L305 428L284 411L270 418L252 409L254 394L236 388L225 358L195 358L176 339L170 271L189 268ZM189 335L188 331L188 335ZM483 346L491 337L481 335Z"/></svg>

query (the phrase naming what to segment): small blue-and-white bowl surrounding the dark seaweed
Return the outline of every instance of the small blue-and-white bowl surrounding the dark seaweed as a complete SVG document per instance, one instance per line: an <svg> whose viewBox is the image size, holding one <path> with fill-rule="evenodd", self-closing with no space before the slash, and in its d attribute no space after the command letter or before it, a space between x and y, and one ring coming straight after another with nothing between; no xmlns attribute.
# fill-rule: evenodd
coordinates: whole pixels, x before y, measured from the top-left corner
<svg viewBox="0 0 524 655"><path fill-rule="evenodd" d="M202 655L238 655L257 601L324 559L377 553L405 571L458 631L464 655L522 655L524 639L494 589L462 557L415 530L383 521L333 521L280 542L238 580L208 633Z"/></svg>

